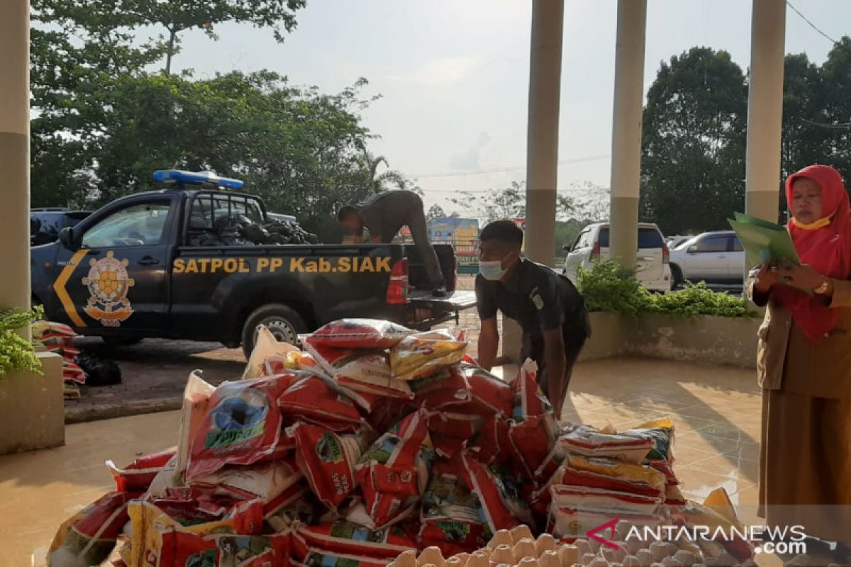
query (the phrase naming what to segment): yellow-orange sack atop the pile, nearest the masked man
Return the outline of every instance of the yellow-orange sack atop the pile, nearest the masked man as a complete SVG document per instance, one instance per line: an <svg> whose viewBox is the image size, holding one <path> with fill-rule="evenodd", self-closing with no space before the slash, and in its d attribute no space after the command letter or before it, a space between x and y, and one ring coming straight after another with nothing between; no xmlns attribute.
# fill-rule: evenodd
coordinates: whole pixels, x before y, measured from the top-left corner
<svg viewBox="0 0 851 567"><path fill-rule="evenodd" d="M467 343L456 341L445 331L420 332L403 338L390 350L393 377L414 380L426 377L441 366L453 365L464 357Z"/></svg>

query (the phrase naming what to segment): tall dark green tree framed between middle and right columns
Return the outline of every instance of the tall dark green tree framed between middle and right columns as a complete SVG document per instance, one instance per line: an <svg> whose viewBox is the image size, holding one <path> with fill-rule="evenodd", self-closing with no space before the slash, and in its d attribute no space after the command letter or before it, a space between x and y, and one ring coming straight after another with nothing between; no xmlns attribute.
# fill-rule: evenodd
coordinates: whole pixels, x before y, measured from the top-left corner
<svg viewBox="0 0 851 567"><path fill-rule="evenodd" d="M726 51L662 62L643 117L644 220L668 234L720 229L745 205L745 77Z"/></svg>

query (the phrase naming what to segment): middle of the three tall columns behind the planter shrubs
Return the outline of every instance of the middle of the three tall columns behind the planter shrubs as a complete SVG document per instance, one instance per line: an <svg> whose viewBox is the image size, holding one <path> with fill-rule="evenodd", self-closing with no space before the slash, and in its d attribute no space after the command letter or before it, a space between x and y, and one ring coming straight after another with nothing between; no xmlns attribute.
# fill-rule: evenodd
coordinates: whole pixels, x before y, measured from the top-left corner
<svg viewBox="0 0 851 567"><path fill-rule="evenodd" d="M638 249L646 27L647 0L618 0L609 243L612 258L628 268L635 268Z"/></svg>

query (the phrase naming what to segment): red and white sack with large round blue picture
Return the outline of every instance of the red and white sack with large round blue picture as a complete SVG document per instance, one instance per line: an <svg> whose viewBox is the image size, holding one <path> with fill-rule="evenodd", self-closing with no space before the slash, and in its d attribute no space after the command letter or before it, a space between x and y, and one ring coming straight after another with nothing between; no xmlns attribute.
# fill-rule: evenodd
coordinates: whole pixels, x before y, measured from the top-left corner
<svg viewBox="0 0 851 567"><path fill-rule="evenodd" d="M249 465L270 458L281 435L276 400L296 379L285 374L226 382L216 388L192 439L186 479L214 473L226 465Z"/></svg>

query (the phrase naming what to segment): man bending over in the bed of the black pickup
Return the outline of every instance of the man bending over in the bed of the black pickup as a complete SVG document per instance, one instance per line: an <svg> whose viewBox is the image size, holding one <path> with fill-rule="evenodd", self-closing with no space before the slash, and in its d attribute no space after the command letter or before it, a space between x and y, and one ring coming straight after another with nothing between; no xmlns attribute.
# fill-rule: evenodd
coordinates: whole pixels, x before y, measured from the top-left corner
<svg viewBox="0 0 851 567"><path fill-rule="evenodd" d="M434 295L439 297L446 294L446 284L437 262L437 252L428 238L426 212L419 195L406 190L385 191L369 197L359 205L340 208L337 220L345 230L356 234L357 241L363 242L365 227L369 230L371 241L381 244L393 241L399 230L407 225L426 265L426 275Z"/></svg>

